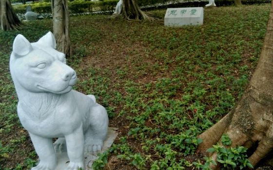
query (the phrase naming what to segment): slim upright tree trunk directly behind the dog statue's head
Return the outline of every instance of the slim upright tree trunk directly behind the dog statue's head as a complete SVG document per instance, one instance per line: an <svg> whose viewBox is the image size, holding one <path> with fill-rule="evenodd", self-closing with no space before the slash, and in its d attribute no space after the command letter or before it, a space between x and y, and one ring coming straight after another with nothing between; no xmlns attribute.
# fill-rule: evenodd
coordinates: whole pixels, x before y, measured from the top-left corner
<svg viewBox="0 0 273 170"><path fill-rule="evenodd" d="M57 50L63 52L66 57L72 56L69 34L69 11L67 0L51 1L53 16L53 33L57 40Z"/></svg>

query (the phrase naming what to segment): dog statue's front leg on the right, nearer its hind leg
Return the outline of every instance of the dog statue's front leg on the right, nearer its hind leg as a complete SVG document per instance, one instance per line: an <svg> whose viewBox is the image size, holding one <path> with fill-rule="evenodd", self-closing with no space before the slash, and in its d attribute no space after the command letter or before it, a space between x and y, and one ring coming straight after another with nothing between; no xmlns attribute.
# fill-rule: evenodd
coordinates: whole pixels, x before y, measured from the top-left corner
<svg viewBox="0 0 273 170"><path fill-rule="evenodd" d="M84 137L82 124L72 134L65 136L69 164L66 170L84 170L83 148Z"/></svg>

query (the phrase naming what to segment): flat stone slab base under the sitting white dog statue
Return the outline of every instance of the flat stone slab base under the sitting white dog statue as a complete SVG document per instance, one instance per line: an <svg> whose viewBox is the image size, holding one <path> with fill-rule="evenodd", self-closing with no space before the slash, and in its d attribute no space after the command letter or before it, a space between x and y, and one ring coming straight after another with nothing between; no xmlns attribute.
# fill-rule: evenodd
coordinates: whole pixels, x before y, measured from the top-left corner
<svg viewBox="0 0 273 170"><path fill-rule="evenodd" d="M102 150L100 153L103 153L107 148L111 147L114 140L117 137L117 128L108 128L108 134L107 138L104 141ZM92 153L84 153L84 165L85 170L91 170L93 162L98 159L97 154ZM55 170L65 170L65 168L68 166L69 158L67 156L67 152L63 153L57 153L57 167Z"/></svg>

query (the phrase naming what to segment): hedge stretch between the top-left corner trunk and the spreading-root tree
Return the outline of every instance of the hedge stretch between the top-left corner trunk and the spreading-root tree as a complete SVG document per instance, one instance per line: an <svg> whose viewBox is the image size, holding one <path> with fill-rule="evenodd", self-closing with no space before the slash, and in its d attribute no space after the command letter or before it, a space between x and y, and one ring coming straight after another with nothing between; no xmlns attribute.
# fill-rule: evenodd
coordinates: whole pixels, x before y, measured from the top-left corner
<svg viewBox="0 0 273 170"><path fill-rule="evenodd" d="M85 1L73 0L68 1L68 8L70 13L85 13L93 11L113 11L116 8L118 0L105 0L105 1ZM31 10L38 13L51 13L51 2L35 2L29 4L14 5L13 8L16 13L26 13L26 7L30 5Z"/></svg>

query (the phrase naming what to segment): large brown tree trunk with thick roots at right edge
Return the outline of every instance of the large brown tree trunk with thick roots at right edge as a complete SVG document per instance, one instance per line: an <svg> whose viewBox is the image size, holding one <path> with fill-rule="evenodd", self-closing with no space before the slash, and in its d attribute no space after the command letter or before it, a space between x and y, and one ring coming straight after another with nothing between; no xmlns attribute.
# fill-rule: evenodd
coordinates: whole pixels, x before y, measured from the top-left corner
<svg viewBox="0 0 273 170"><path fill-rule="evenodd" d="M250 85L235 108L213 127L201 134L203 143L198 149L204 153L215 145L223 134L232 139L232 147L254 147L249 157L253 166L273 148L273 1L260 59ZM213 153L216 159L216 153ZM211 167L213 170L218 166Z"/></svg>

